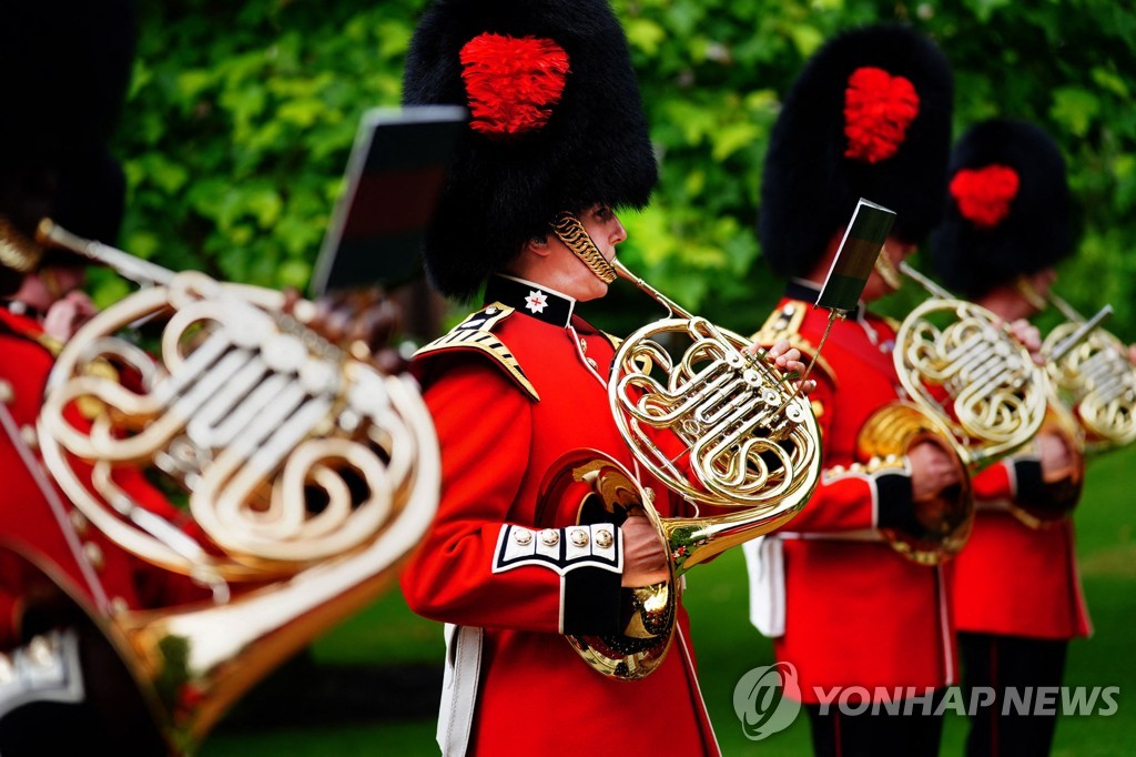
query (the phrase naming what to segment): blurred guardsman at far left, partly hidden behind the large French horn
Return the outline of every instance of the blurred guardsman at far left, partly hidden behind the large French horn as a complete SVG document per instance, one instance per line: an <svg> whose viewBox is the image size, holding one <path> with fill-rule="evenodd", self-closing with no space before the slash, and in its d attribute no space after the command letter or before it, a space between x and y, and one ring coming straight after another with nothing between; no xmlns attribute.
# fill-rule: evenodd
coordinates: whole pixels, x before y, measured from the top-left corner
<svg viewBox="0 0 1136 757"><path fill-rule="evenodd" d="M68 305L64 289L82 269L36 246L35 225L50 215L115 241L125 182L107 141L130 81L134 26L133 5L122 0L0 10L0 751L16 757L92 743L157 754L160 739L127 671L70 599L106 617L207 596L99 533L50 480L34 431L60 348L44 322ZM37 278L43 297L24 299L25 278ZM74 414L82 425L82 409ZM141 475L117 483L175 515ZM59 588L69 594L64 606Z"/></svg>

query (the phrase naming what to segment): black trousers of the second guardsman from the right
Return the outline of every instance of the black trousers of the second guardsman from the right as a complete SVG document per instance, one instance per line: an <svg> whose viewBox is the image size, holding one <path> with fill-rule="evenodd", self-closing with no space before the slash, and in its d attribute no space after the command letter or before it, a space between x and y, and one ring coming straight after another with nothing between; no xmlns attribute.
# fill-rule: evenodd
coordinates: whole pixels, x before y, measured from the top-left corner
<svg viewBox="0 0 1136 757"><path fill-rule="evenodd" d="M821 715L819 705L805 705L812 726L812 752L817 757L935 757L943 735L943 716L933 713L945 691L936 690L929 706L914 702L907 715L902 708L900 714L883 709L877 714L844 714L835 702Z"/></svg>

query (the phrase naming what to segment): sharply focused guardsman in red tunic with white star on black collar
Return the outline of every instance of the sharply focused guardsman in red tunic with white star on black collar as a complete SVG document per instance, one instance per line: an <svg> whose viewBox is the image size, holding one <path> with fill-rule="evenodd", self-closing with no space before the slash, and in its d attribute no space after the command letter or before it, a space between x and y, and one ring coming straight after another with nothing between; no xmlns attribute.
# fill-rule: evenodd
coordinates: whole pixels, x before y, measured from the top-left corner
<svg viewBox="0 0 1136 757"><path fill-rule="evenodd" d="M434 2L403 100L469 109L425 260L438 291L484 285L485 302L412 363L443 491L401 582L446 624L442 751L718 754L682 610L661 665L635 681L591 669L563 637L617 633L621 589L666 580L646 519L574 526L575 507L538 497L574 449L636 469L608 405L613 340L576 313L615 278L615 208L642 207L657 178L619 22L605 0Z"/></svg>

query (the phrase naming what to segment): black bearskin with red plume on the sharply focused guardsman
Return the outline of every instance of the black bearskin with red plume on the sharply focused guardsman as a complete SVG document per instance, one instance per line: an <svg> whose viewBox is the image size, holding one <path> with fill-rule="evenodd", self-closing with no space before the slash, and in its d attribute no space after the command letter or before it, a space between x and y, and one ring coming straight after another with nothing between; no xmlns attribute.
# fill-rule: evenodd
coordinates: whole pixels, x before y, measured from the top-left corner
<svg viewBox="0 0 1136 757"><path fill-rule="evenodd" d="M561 210L642 208L658 169L623 27L607 0L435 0L404 105L470 122L426 236L426 271L469 298Z"/></svg>

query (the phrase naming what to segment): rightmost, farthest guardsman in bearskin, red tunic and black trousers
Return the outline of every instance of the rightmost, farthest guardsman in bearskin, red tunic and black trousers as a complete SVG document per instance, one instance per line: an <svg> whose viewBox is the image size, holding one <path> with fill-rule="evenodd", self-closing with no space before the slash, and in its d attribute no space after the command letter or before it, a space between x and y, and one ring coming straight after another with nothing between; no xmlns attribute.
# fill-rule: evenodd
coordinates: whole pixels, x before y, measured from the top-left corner
<svg viewBox="0 0 1136 757"><path fill-rule="evenodd" d="M1006 322L1045 309L1054 267L1075 250L1056 143L1025 122L976 124L955 145L947 181L946 216L932 236L939 280ZM963 683L996 691L971 713L968 755L1047 755L1056 712L1006 709L1005 691L1060 687L1069 640L1091 632L1069 517L1084 473L1075 429L1043 426L1027 451L975 477L954 614Z"/></svg>

